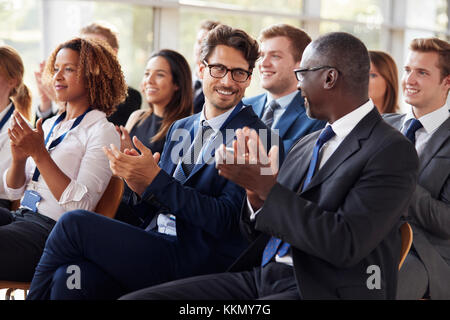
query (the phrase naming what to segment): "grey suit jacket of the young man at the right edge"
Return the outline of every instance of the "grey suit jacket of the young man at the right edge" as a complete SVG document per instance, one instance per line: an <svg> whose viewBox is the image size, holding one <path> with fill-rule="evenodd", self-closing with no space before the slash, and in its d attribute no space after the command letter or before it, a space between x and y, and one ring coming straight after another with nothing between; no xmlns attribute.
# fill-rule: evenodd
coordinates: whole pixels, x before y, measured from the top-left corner
<svg viewBox="0 0 450 320"><path fill-rule="evenodd" d="M398 130L404 118L384 116ZM419 160L408 212L413 246L428 272L431 299L450 299L450 118L431 136Z"/></svg>

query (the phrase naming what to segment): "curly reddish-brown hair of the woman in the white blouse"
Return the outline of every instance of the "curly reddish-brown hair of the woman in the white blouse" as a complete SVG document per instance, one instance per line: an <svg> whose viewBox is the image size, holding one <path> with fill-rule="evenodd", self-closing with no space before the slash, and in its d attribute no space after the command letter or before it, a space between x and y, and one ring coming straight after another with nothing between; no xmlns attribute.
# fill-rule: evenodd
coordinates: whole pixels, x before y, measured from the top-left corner
<svg viewBox="0 0 450 320"><path fill-rule="evenodd" d="M93 109L106 113L116 111L116 107L127 97L127 84L116 54L110 46L100 41L74 38L60 44L50 55L44 69L45 81L52 81L55 74L56 55L61 49L71 49L80 55L78 77L84 77L89 103Z"/></svg>

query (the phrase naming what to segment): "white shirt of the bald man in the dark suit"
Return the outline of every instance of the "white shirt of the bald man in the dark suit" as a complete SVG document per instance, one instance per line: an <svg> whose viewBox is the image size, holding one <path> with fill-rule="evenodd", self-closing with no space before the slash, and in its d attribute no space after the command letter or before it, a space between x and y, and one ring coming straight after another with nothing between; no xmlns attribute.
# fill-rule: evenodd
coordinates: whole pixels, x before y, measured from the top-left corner
<svg viewBox="0 0 450 320"><path fill-rule="evenodd" d="M373 108L374 108L373 102L371 99L369 99L369 101L367 101L357 109L353 110L352 112L347 113L342 118L336 120L333 124L330 123L326 124L325 128L327 126L331 126L336 135L333 136L330 140L328 140L319 151L319 170L328 161L328 159L330 159L330 157L337 150L341 142L344 141L344 139L348 136L348 134L370 111L372 111ZM322 131L325 130L325 128L322 129ZM317 172L315 174L317 174ZM247 207L249 208L250 220L254 220L256 218L256 215L259 213L261 209L256 212L253 212L253 209L248 201L248 198L247 198ZM288 253L283 257L279 257L277 254L275 256L275 261L292 266L293 262L291 249L289 249Z"/></svg>

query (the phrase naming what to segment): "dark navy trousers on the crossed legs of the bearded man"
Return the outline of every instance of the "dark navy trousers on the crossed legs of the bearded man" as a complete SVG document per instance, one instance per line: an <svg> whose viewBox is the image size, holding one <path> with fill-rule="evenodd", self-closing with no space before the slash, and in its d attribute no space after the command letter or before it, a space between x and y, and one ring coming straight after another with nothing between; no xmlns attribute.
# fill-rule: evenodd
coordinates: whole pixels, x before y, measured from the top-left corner
<svg viewBox="0 0 450 320"><path fill-rule="evenodd" d="M48 238L28 299L117 299L181 278L183 269L192 267L183 260L175 237L71 211ZM80 271L79 288L68 285L75 279L74 267Z"/></svg>

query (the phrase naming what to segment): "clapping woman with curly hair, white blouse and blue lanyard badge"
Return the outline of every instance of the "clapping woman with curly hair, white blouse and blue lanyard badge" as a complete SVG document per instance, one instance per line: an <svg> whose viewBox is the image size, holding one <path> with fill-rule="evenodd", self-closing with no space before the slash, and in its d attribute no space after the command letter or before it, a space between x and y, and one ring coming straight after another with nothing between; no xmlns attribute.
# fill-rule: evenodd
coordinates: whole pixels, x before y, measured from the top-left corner
<svg viewBox="0 0 450 320"><path fill-rule="evenodd" d="M102 147L119 146L106 116L125 99L126 84L110 48L75 38L60 44L44 76L65 105L31 129L13 113L8 130L12 161L3 177L17 211L0 209L0 279L31 281L45 241L61 215L94 210L111 178Z"/></svg>

